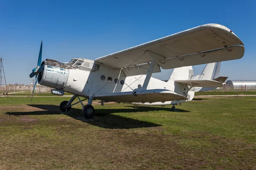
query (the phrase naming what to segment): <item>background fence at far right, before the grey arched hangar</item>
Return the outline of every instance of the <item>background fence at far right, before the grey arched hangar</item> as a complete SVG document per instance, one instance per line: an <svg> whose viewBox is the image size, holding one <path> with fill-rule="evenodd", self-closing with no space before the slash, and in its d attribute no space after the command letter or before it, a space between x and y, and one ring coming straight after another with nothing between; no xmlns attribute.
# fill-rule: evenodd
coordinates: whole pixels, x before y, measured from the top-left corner
<svg viewBox="0 0 256 170"><path fill-rule="evenodd" d="M256 85L223 85L210 91L256 91Z"/></svg>

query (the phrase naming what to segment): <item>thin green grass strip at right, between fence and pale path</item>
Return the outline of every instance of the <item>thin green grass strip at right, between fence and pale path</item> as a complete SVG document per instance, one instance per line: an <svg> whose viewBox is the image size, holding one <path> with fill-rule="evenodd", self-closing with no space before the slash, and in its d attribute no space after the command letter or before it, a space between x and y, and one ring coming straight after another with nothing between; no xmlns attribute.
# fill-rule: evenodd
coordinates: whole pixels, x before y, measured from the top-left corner
<svg viewBox="0 0 256 170"><path fill-rule="evenodd" d="M256 95L256 91L202 91L195 93L195 96L201 95Z"/></svg>

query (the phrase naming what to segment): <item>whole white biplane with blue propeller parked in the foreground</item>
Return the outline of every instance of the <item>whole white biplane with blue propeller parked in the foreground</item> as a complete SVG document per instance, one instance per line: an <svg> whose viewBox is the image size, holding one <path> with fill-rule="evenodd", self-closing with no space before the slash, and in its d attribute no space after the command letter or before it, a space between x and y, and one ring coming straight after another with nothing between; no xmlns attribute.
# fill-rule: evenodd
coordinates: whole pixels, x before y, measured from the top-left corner
<svg viewBox="0 0 256 170"><path fill-rule="evenodd" d="M38 65L29 77L35 76L35 84L38 81L55 88L52 94L74 94L69 101L61 102L61 111L67 112L80 102L84 117L91 118L95 112L93 99L135 105L190 101L194 87L222 86L214 80L192 79L191 65L240 59L243 55L244 44L233 31L219 24L205 24L95 60L76 58L69 63L53 59L41 63L41 42ZM161 71L160 67L176 68L168 82L151 78L152 73ZM144 81L135 87L129 77L143 74ZM88 98L87 105L79 96ZM76 97L79 102L72 104Z"/></svg>

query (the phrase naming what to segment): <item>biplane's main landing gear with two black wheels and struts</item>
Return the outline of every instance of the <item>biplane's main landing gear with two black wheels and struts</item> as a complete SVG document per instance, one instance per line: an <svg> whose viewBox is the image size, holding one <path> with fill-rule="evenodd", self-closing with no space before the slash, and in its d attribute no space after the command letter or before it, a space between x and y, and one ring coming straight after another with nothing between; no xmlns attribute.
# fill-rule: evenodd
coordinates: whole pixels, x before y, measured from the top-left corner
<svg viewBox="0 0 256 170"><path fill-rule="evenodd" d="M71 105L71 103L76 99L76 97L79 99L79 102L76 102L76 103ZM86 99L88 99L88 98L86 98ZM79 96L74 95L74 96L71 97L70 101L63 101L63 102L61 102L60 109L63 112L68 112L68 111L70 111L71 106L76 105L78 103L81 103L81 105L83 106L83 109L82 109L83 116L85 118L87 118L87 119L90 119L90 118L93 117L93 115L95 113L95 110L94 110L94 108L92 106L93 98L89 97L88 104L87 105L83 105L82 101L84 101L86 99L81 100L79 98Z"/></svg>

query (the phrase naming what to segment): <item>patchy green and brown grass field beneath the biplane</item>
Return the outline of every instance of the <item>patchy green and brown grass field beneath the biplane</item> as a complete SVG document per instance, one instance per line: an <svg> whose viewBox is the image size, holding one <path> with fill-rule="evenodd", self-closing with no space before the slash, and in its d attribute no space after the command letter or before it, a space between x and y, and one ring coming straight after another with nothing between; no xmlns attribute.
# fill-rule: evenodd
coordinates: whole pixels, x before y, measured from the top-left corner
<svg viewBox="0 0 256 170"><path fill-rule="evenodd" d="M256 169L256 97L137 107L94 102L60 113L67 97L0 98L0 170Z"/></svg>

